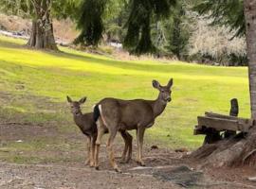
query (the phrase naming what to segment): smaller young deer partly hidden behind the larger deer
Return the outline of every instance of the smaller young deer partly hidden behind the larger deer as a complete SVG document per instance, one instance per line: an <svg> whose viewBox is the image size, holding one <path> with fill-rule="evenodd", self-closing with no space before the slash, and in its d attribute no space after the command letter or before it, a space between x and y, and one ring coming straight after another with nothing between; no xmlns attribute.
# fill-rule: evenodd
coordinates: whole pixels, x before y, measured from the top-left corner
<svg viewBox="0 0 256 189"><path fill-rule="evenodd" d="M66 96L66 98L71 106L71 112L76 125L81 129L82 133L87 136L87 160L85 164L94 166L95 142L97 139L97 125L94 120L94 114L93 112L82 113L81 111L81 105L85 102L86 97L82 97L79 101L73 101L69 96ZM105 130L105 132L108 131ZM121 161L128 163L132 155L133 137L125 130L120 130L120 134L125 143Z"/></svg>

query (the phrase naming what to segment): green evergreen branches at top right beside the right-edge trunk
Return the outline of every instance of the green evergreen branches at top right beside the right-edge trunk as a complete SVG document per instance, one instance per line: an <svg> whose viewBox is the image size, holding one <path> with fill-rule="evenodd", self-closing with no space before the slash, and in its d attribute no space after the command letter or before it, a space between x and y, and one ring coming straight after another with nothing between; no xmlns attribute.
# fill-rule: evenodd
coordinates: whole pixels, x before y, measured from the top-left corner
<svg viewBox="0 0 256 189"><path fill-rule="evenodd" d="M243 0L202 0L194 9L213 18L212 25L230 26L236 30L234 36L246 33Z"/></svg>

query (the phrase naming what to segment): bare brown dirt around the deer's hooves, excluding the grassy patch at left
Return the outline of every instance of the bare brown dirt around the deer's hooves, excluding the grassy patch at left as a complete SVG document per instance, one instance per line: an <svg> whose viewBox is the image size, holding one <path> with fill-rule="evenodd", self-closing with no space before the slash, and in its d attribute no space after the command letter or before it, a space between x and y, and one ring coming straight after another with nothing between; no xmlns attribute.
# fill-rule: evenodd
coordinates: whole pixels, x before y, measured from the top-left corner
<svg viewBox="0 0 256 189"><path fill-rule="evenodd" d="M52 126L0 123L3 144L10 141L27 141L44 137L64 138L68 143L83 144L84 137L79 132L60 133ZM85 144L84 144L85 147ZM123 145L117 141L115 149L120 152ZM1 149L1 146L0 146ZM134 143L133 157L137 146ZM6 151L9 153L9 151ZM33 152L27 152L29 153ZM166 148L152 148L145 145L145 167L131 163L119 163L122 173L112 170L106 156L106 148L101 146L101 169L99 171L84 165L85 150L72 149L70 153L59 148L37 150L38 156L62 156L68 161L45 163L9 163L0 158L0 188L5 189L75 189L75 188L256 188L256 183L247 180L255 176L249 167L213 169L202 168L186 158L187 152L174 152ZM76 159L80 157L79 159Z"/></svg>

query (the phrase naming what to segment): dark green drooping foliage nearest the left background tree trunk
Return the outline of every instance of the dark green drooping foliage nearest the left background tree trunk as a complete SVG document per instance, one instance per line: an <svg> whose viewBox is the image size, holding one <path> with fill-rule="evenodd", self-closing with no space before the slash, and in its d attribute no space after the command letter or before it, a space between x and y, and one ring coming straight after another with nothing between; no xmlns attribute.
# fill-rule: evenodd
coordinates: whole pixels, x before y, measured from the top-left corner
<svg viewBox="0 0 256 189"><path fill-rule="evenodd" d="M82 45L97 45L101 41L104 30L102 16L106 0L84 0L82 3L81 16L78 28L81 34L74 43Z"/></svg>

